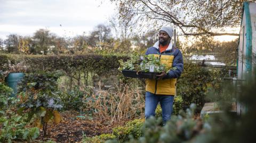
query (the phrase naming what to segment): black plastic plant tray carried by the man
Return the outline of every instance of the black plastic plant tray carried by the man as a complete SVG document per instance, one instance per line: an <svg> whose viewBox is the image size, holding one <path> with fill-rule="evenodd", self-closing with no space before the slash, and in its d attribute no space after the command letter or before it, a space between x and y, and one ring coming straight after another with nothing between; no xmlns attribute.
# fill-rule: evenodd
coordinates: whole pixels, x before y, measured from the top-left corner
<svg viewBox="0 0 256 143"><path fill-rule="evenodd" d="M161 73L159 72L144 72L144 71L131 71L131 70L122 70L124 77L130 78L146 78L146 79L156 79L156 75Z"/></svg>

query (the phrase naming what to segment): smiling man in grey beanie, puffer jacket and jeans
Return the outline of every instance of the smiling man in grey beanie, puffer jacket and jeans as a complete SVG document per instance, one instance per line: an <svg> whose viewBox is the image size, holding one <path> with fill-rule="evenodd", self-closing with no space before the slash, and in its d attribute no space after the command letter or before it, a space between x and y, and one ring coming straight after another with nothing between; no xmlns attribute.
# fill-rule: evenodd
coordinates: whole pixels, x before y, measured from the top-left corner
<svg viewBox="0 0 256 143"><path fill-rule="evenodd" d="M183 71L183 58L178 48L172 45L172 27L162 27L158 41L147 49L146 55L153 54L161 59L170 71L157 75L157 79L146 79L145 116L155 116L158 102L162 108L163 124L171 119L173 99L176 95L176 82Z"/></svg>

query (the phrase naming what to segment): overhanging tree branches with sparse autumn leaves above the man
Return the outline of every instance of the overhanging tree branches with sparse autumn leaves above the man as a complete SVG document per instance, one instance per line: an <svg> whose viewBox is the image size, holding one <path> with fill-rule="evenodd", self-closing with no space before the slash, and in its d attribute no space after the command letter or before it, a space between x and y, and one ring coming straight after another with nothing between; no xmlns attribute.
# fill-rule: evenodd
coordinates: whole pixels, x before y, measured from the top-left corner
<svg viewBox="0 0 256 143"><path fill-rule="evenodd" d="M119 19L133 16L139 28L173 24L182 35L233 35L221 32L241 22L243 0L110 0L117 5ZM255 0L249 0L255 2Z"/></svg>

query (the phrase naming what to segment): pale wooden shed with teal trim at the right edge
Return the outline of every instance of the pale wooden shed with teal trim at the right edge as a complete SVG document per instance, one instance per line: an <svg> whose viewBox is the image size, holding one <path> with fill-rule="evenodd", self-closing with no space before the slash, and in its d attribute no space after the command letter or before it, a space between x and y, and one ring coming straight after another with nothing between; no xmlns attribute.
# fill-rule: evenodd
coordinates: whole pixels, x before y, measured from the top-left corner
<svg viewBox="0 0 256 143"><path fill-rule="evenodd" d="M241 29L239 32L237 79L241 84L246 77L255 75L256 64L256 3L244 3ZM238 85L239 86L239 85ZM237 103L237 113L241 114L246 107Z"/></svg>

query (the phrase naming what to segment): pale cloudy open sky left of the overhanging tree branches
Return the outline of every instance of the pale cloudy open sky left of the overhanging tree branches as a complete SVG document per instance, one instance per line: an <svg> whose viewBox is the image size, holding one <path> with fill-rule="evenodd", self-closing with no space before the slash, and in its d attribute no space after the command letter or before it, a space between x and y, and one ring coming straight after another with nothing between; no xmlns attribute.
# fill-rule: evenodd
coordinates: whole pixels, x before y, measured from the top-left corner
<svg viewBox="0 0 256 143"><path fill-rule="evenodd" d="M41 28L61 37L89 34L107 24L114 9L106 0L0 0L0 38L32 36Z"/></svg>

